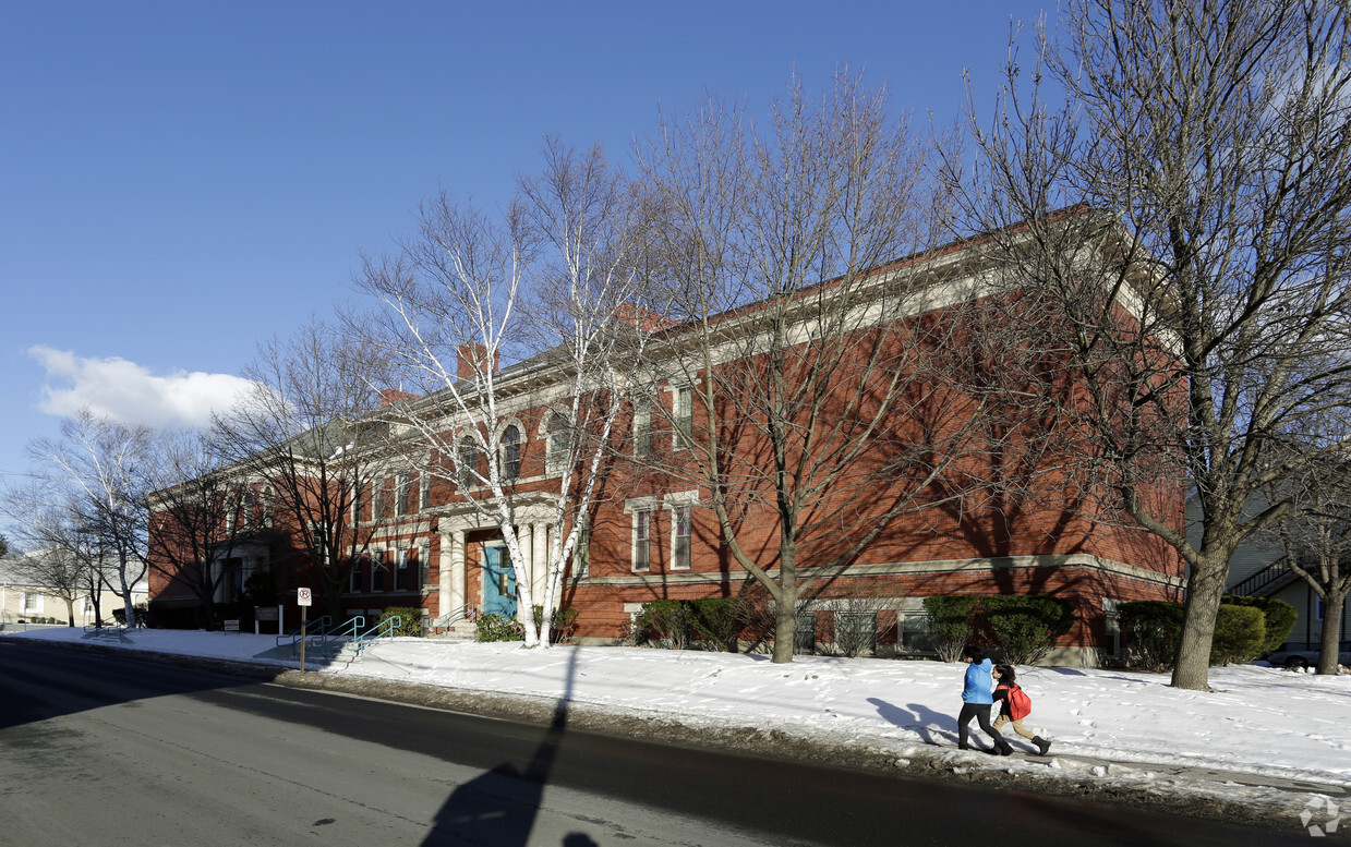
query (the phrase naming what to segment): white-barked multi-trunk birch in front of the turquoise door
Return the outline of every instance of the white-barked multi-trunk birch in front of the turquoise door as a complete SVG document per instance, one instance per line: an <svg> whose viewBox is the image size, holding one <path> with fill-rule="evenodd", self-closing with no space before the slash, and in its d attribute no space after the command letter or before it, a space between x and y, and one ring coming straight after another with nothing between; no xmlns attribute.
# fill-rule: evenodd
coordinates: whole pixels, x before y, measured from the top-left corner
<svg viewBox="0 0 1351 847"><path fill-rule="evenodd" d="M442 193L423 205L419 235L394 257L367 259L358 280L384 305L380 343L423 393L390 407L392 426L415 430L439 459L431 473L501 528L527 647L550 643L562 575L646 338L636 326L642 223L642 204L600 147L550 138L543 172L520 181L501 220ZM499 370L503 358L515 363ZM540 373L566 385L546 409L523 393ZM546 432L542 480L531 482L523 416ZM559 530L534 574L516 532L527 505Z"/></svg>

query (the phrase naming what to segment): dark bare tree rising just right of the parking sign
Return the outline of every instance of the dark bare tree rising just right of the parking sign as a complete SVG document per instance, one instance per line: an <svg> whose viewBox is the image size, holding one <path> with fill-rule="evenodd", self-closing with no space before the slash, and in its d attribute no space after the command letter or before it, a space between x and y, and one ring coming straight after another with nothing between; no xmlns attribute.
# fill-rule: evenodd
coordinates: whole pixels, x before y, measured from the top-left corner
<svg viewBox="0 0 1351 847"><path fill-rule="evenodd" d="M245 370L254 388L213 419L212 439L239 488L270 492L273 521L293 534L300 567L334 615L342 611L351 567L385 523L386 509L363 508L404 457L372 412L385 366L369 343L311 320L289 339L258 349ZM215 485L215 482L212 482Z"/></svg>

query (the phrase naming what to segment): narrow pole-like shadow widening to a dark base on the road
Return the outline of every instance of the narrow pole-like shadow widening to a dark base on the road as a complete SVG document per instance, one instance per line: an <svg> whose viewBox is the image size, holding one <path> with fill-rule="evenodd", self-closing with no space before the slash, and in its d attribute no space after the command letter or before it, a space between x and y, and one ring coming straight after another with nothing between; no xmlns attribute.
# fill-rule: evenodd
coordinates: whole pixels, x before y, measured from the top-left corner
<svg viewBox="0 0 1351 847"><path fill-rule="evenodd" d="M577 651L573 651L567 661L563 696L554 707L554 720L530 762L524 767L504 762L457 788L436 813L423 847L526 847L530 843L544 786L567 729L567 704L576 673ZM563 838L562 847L596 847L596 842L584 832L570 832Z"/></svg>

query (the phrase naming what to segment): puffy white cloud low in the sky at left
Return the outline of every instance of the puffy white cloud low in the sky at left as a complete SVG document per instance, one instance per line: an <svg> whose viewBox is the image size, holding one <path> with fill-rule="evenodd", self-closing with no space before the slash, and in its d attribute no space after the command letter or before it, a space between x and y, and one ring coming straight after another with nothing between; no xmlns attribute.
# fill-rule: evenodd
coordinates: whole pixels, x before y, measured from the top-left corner
<svg viewBox="0 0 1351 847"><path fill-rule="evenodd" d="M38 408L70 415L84 407L113 420L154 427L203 427L250 386L230 374L177 371L155 376L122 358L82 358L69 350L35 346L28 355L46 373Z"/></svg>

